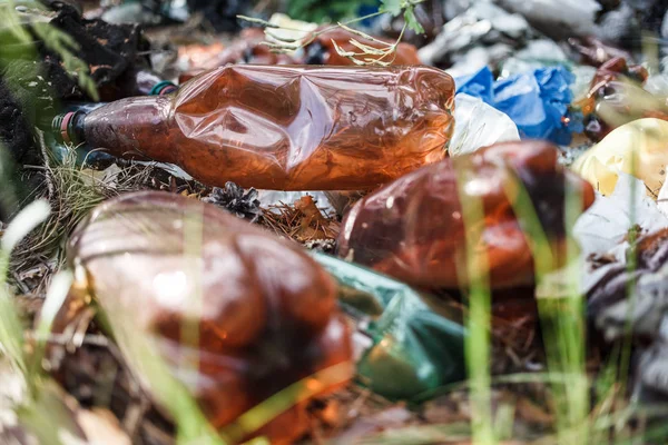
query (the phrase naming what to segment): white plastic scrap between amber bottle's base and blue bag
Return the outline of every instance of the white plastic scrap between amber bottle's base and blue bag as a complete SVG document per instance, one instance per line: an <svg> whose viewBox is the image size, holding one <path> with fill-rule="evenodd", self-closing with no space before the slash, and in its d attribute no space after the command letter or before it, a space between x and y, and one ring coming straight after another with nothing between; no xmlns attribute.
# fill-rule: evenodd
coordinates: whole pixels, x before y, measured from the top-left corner
<svg viewBox="0 0 668 445"><path fill-rule="evenodd" d="M454 132L450 156L471 154L497 142L520 140L514 122L481 99L460 92L454 97Z"/></svg>

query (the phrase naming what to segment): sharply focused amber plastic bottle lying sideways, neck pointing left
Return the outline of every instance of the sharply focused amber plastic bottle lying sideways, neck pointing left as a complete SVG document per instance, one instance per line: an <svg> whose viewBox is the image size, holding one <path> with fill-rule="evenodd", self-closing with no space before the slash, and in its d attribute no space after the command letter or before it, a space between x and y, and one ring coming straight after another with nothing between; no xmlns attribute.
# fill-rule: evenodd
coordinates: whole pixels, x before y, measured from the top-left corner
<svg viewBox="0 0 668 445"><path fill-rule="evenodd" d="M452 78L429 67L228 66L55 126L213 186L358 190L442 159L453 98Z"/></svg>

